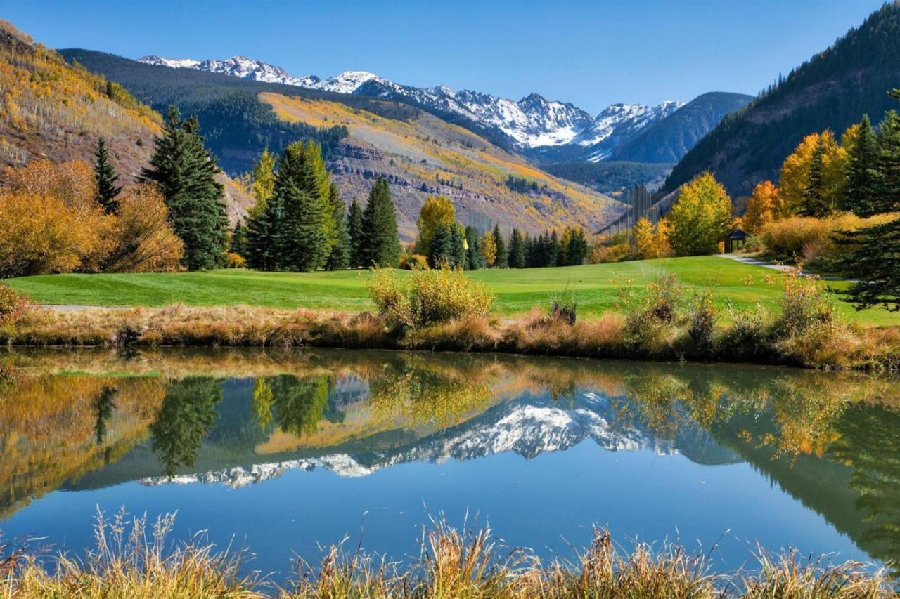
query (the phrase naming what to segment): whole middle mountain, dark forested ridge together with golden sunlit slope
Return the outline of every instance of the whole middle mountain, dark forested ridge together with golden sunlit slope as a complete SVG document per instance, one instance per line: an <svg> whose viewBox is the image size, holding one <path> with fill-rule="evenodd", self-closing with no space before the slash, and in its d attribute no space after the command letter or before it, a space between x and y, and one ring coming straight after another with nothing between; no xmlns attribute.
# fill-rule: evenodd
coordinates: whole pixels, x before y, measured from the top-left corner
<svg viewBox="0 0 900 599"><path fill-rule="evenodd" d="M364 201L374 177L388 178L404 238L414 235L419 208L437 192L453 199L464 223L479 228L500 223L543 231L581 224L590 231L621 211L608 197L561 182L490 139L407 103L151 66L89 50L61 52L154 107L177 103L197 113L208 146L231 173L249 170L264 148L280 152L296 139L319 140L347 201ZM512 192L504 183L510 174L547 189Z"/></svg>

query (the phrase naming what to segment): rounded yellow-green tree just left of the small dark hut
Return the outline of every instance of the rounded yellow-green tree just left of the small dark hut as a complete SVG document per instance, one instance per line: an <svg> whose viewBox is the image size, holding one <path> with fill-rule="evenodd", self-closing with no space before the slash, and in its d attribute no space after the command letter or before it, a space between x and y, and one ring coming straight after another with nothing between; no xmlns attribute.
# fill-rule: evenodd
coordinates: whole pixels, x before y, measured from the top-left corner
<svg viewBox="0 0 900 599"><path fill-rule="evenodd" d="M718 250L731 226L732 201L712 173L698 174L681 185L672 206L669 243L676 255L707 255Z"/></svg>

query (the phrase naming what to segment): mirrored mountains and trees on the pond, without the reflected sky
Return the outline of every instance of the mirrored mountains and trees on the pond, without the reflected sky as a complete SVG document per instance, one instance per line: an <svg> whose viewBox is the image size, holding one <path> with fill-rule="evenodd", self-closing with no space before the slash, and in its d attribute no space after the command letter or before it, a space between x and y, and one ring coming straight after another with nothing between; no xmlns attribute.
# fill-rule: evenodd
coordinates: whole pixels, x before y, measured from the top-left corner
<svg viewBox="0 0 900 599"><path fill-rule="evenodd" d="M360 477L590 441L747 462L873 558L900 559L896 380L386 352L6 353L0 363L16 373L0 387L2 517L58 488L241 487L291 469Z"/></svg>

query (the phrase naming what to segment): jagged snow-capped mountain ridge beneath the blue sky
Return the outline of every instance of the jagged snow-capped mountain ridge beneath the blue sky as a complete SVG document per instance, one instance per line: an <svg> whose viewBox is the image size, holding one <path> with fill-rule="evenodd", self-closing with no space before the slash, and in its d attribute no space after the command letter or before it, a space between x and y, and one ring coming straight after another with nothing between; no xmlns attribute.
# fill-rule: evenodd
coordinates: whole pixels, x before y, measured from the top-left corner
<svg viewBox="0 0 900 599"><path fill-rule="evenodd" d="M408 98L442 112L459 114L482 127L500 130L520 148L548 148L577 144L587 148L591 160L610 156L621 143L660 121L684 103L664 102L658 106L612 104L596 117L572 103L547 100L540 94L528 94L518 102L472 90L455 92L446 85L413 87L367 71L345 71L337 76L291 76L282 67L261 60L235 56L228 60L162 58L156 55L138 59L148 65L193 68L266 83L297 85L337 94L370 97Z"/></svg>

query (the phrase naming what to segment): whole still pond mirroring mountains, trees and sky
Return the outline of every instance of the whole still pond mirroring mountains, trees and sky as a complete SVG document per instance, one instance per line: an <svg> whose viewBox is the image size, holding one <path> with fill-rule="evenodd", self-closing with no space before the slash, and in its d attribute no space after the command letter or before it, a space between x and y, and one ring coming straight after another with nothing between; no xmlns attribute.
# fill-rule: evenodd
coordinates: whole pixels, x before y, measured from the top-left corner
<svg viewBox="0 0 900 599"><path fill-rule="evenodd" d="M853 373L392 352L0 353L0 531L89 547L97 510L289 577L490 524L542 559L607 528L752 563L900 559L900 384Z"/></svg>

